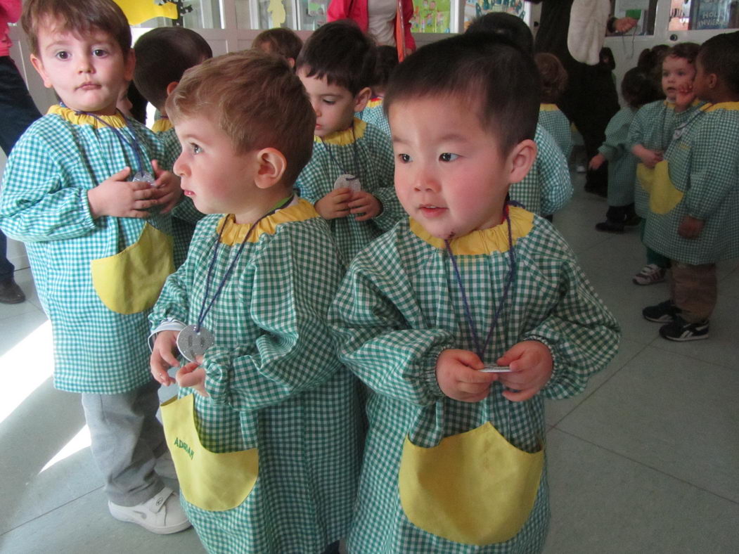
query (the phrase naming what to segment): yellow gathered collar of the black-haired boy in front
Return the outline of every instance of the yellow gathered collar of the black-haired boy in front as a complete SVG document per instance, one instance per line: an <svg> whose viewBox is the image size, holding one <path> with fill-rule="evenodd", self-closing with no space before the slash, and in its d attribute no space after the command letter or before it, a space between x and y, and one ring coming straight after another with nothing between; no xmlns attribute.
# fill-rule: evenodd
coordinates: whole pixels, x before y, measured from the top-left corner
<svg viewBox="0 0 739 554"><path fill-rule="evenodd" d="M511 235L513 243L518 239L531 233L534 228L534 214L523 208L511 206L508 209L511 218ZM410 219L410 228L415 236L433 247L444 249L444 241L432 236L419 222ZM500 225L488 229L474 230L465 236L457 237L449 242L452 253L455 256L475 256L479 254L490 254L493 252L508 252L508 223L505 221Z"/></svg>

